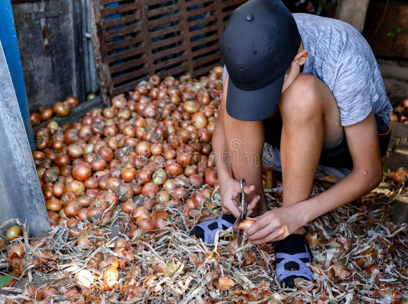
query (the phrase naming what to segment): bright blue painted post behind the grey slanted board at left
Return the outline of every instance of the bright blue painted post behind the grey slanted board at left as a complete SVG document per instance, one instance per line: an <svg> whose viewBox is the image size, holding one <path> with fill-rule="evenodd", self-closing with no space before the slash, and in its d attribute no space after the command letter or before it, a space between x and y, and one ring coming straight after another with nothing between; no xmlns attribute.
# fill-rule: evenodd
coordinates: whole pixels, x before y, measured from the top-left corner
<svg viewBox="0 0 408 304"><path fill-rule="evenodd" d="M17 33L14 27L13 9L10 0L0 0L0 41L2 42L7 66L17 96L18 106L25 132L30 142L31 150L35 150L33 129L31 126L30 112L25 93L24 77L22 74L20 50L18 48Z"/></svg>

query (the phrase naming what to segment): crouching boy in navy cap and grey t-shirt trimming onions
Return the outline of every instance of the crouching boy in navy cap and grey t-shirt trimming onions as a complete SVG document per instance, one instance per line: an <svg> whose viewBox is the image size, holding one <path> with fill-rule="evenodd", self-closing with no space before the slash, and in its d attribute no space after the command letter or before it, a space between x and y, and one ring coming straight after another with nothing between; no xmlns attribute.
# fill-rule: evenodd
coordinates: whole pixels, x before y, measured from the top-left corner
<svg viewBox="0 0 408 304"><path fill-rule="evenodd" d="M293 288L296 277L313 280L303 225L380 183L392 107L358 31L339 20L292 15L278 0L236 9L222 53L224 91L212 144L225 214L190 235L212 243L216 231L232 226L245 178L248 216L257 217L245 235L253 244L275 243L278 281ZM283 207L270 211L262 157L282 170ZM309 198L317 169L341 181Z"/></svg>

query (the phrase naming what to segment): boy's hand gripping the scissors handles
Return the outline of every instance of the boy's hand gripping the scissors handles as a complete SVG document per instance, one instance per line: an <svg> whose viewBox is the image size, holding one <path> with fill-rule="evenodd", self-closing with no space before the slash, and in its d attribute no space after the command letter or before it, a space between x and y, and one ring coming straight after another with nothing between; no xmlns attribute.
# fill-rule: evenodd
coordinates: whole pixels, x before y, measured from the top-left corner
<svg viewBox="0 0 408 304"><path fill-rule="evenodd" d="M233 214L235 217L241 216L241 183L228 178L223 181L219 181L222 199L222 212ZM251 194L255 191L255 186L245 186L245 194ZM247 210L247 216L251 215L252 210L256 207L260 196L255 195L252 197Z"/></svg>

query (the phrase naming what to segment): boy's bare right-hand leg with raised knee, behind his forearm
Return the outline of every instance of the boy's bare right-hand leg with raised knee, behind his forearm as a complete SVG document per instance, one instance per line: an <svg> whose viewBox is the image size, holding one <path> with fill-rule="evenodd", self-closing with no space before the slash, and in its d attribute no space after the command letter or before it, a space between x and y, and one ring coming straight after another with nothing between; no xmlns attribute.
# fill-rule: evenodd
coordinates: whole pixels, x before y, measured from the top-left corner
<svg viewBox="0 0 408 304"><path fill-rule="evenodd" d="M311 75L299 74L279 102L283 205L310 196L323 144L333 146L343 136L340 113L329 89ZM303 227L295 232L303 233Z"/></svg>

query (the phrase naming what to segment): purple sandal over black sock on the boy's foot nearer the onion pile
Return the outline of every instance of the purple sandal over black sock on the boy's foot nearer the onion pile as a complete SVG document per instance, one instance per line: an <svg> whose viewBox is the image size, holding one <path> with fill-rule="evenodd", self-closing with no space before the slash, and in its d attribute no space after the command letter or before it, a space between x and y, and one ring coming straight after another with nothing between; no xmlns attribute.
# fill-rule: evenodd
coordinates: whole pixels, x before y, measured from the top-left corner
<svg viewBox="0 0 408 304"><path fill-rule="evenodd" d="M204 242L214 244L214 239L219 230L226 230L234 225L236 218L232 214L222 216L199 223L193 227L189 236L196 236Z"/></svg>

